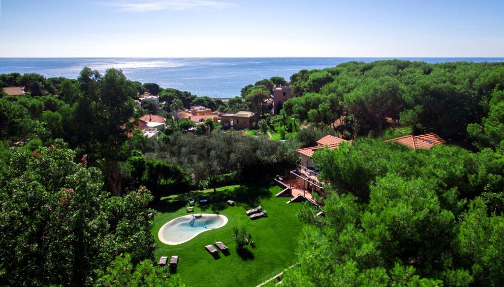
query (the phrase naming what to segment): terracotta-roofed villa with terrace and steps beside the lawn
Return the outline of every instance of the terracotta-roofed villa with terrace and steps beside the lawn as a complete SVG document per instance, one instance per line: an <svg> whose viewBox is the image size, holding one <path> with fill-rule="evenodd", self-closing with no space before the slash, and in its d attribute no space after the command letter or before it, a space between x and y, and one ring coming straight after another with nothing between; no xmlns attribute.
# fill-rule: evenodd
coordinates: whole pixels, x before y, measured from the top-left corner
<svg viewBox="0 0 504 287"><path fill-rule="evenodd" d="M296 165L296 169L289 173L288 178L277 181L285 187L277 196L293 196L287 203L308 200L319 205L312 198L312 193L316 192L319 196L326 197L327 191L324 191L324 183L319 180L317 165L312 160L313 154L326 147L330 150L337 149L342 142L348 142L352 145L353 141L328 134L317 141L316 147L296 150L299 154L299 163Z"/></svg>

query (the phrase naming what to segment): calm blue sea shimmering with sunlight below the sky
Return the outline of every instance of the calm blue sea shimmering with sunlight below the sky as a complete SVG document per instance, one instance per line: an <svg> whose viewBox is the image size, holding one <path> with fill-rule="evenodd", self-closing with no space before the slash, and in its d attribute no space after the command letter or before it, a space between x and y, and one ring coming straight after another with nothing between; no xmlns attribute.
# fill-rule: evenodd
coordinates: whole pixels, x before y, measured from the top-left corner
<svg viewBox="0 0 504 287"><path fill-rule="evenodd" d="M372 62L395 58L0 58L0 74L38 73L46 78L76 79L83 67L101 73L121 69L132 81L157 83L163 88L197 96L232 98L241 88L273 76L290 76L301 69L333 67L348 61ZM504 58L397 58L427 63L500 62Z"/></svg>

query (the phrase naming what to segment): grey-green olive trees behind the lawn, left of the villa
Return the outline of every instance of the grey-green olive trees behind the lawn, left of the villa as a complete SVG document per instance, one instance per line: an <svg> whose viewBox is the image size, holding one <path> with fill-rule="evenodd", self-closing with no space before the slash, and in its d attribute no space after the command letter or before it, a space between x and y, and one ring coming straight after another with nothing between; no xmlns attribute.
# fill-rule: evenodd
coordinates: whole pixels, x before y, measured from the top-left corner
<svg viewBox="0 0 504 287"><path fill-rule="evenodd" d="M297 159L293 145L239 132L215 133L209 137L174 133L169 145L148 152L146 158L180 166L197 188L210 176L232 172L236 172L240 182L269 181L293 167Z"/></svg>

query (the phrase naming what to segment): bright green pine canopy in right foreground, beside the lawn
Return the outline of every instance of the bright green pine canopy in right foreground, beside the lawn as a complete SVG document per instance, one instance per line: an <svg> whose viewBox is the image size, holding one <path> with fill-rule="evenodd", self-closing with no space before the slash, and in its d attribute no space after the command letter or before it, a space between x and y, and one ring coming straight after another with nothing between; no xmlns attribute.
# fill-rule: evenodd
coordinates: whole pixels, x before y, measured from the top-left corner
<svg viewBox="0 0 504 287"><path fill-rule="evenodd" d="M301 236L300 265L283 283L500 284L504 224L494 203L502 194L501 157L371 139L318 150L321 179L331 182L325 217L312 208L299 213L311 227Z"/></svg>

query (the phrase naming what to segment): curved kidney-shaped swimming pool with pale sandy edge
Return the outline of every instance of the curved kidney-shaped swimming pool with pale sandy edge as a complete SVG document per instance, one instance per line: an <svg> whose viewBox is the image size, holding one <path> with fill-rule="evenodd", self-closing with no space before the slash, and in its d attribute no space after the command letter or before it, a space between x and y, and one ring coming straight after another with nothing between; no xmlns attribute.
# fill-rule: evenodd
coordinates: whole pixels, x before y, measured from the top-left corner
<svg viewBox="0 0 504 287"><path fill-rule="evenodd" d="M177 245L190 241L205 231L221 228L227 224L222 214L189 214L165 223L158 232L159 241Z"/></svg>

